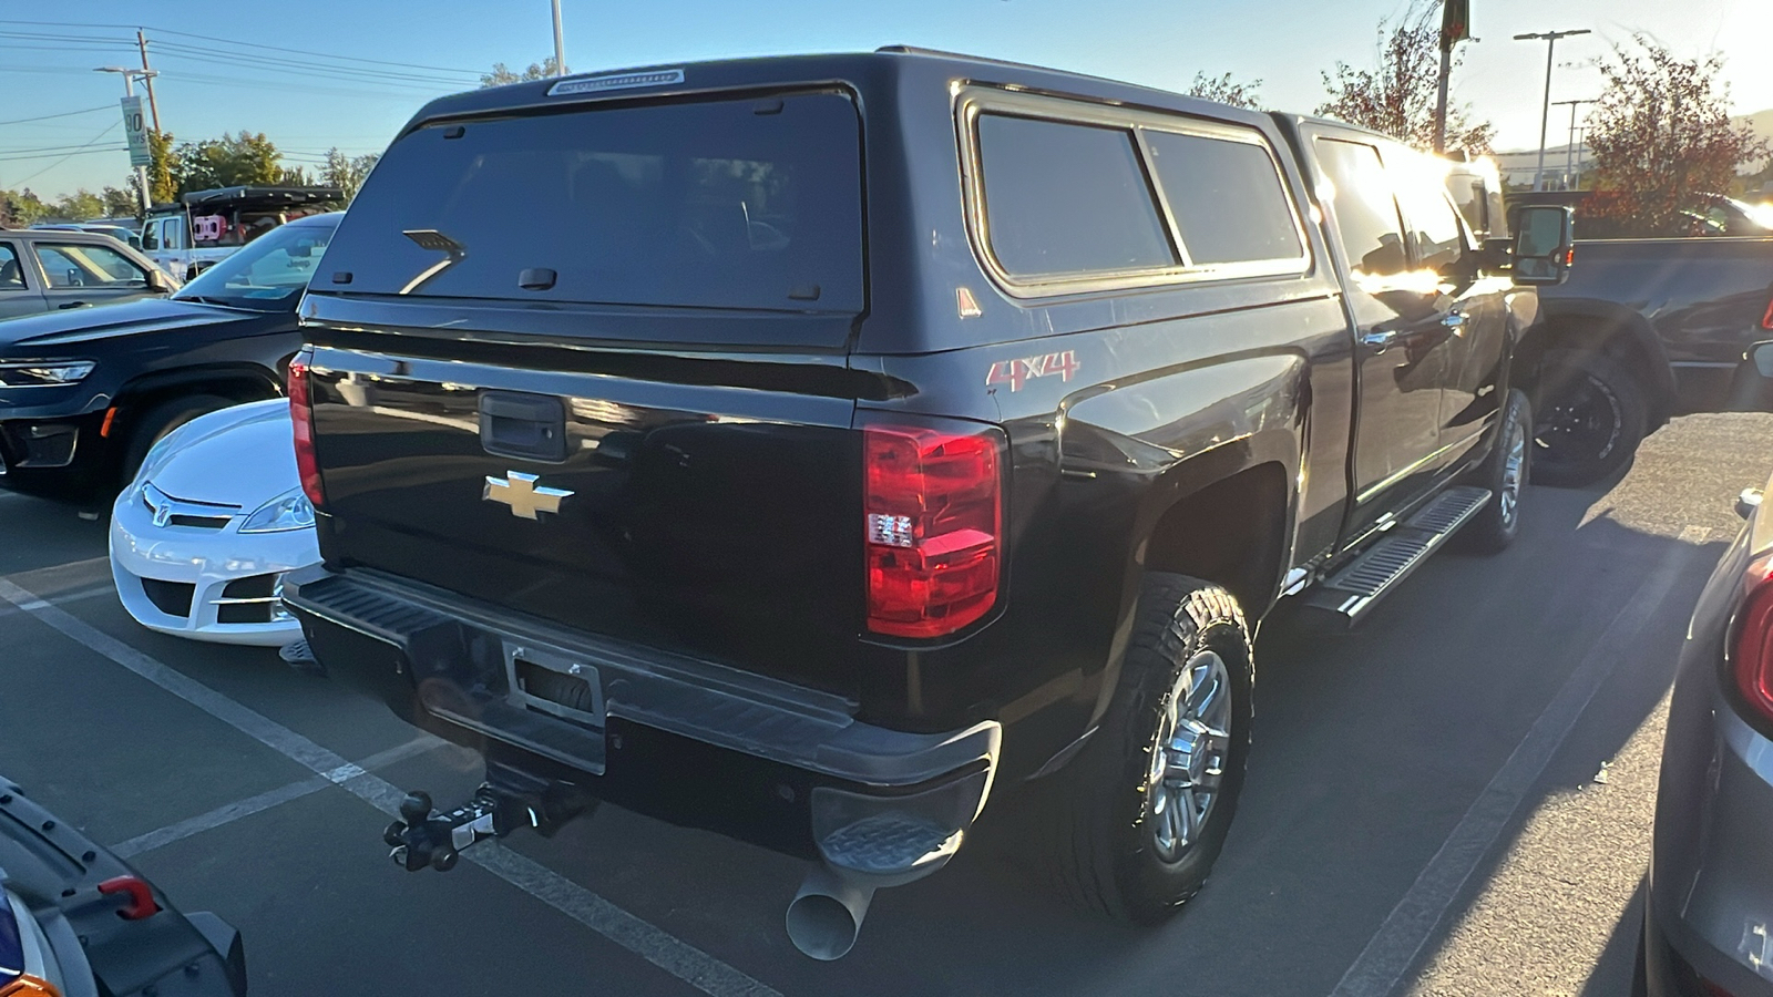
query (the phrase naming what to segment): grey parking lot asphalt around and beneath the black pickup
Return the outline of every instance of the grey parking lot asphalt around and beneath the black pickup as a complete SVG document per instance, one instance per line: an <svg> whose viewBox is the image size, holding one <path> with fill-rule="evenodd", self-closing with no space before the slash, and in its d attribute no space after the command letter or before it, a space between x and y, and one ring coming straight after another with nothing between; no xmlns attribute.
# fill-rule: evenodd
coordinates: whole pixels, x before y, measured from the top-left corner
<svg viewBox="0 0 1773 997"><path fill-rule="evenodd" d="M232 921L261 995L1624 993L1675 653L1769 470L1773 417L1683 417L1353 633L1273 617L1230 843L1152 930L1028 885L1005 818L883 891L837 963L782 931L800 862L613 807L402 873L387 811L472 791L468 752L271 651L142 630L105 523L11 493L0 773Z"/></svg>

